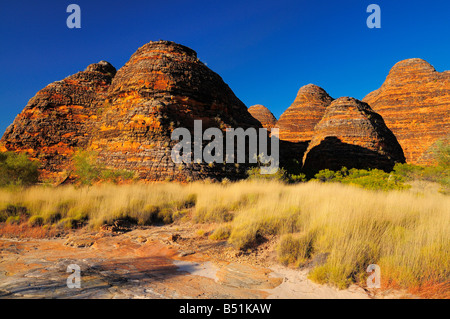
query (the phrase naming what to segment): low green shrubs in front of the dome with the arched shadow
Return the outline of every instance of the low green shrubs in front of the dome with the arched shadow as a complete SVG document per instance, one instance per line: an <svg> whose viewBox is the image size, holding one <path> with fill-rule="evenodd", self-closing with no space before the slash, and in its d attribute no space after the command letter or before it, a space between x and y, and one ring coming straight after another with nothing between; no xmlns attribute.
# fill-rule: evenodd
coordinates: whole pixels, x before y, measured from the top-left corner
<svg viewBox="0 0 450 319"><path fill-rule="evenodd" d="M348 170L343 167L340 171L321 170L314 178L321 182L340 182L351 184L372 190L406 189L402 176L386 173L379 169L355 169Z"/></svg>

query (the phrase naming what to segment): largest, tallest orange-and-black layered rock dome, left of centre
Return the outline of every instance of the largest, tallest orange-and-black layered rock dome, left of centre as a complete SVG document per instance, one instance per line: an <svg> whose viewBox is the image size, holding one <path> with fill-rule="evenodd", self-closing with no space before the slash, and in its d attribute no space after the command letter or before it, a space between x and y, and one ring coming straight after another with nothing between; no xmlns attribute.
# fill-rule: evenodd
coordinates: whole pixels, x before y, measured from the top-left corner
<svg viewBox="0 0 450 319"><path fill-rule="evenodd" d="M117 72L91 148L107 166L132 170L145 180L233 178L235 165L175 164L173 129L261 127L222 78L195 51L168 41L141 47Z"/></svg>

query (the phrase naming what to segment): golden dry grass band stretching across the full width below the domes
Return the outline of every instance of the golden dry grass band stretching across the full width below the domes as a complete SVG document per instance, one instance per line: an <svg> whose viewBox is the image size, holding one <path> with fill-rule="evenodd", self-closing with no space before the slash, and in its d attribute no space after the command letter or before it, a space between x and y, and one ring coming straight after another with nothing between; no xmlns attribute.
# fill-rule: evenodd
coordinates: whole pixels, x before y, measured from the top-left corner
<svg viewBox="0 0 450 319"><path fill-rule="evenodd" d="M21 219L30 228L96 228L124 218L150 225L190 217L219 223L210 238L238 249L276 236L284 264L327 256L310 272L320 283L364 284L367 266L378 264L385 287L448 287L450 197L439 193L260 180L0 190L3 227Z"/></svg>

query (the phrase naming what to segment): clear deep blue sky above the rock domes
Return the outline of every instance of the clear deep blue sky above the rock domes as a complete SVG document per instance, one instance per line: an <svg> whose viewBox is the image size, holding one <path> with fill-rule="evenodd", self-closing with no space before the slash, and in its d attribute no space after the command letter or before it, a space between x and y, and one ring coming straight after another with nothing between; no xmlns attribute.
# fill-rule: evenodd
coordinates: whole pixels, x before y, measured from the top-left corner
<svg viewBox="0 0 450 319"><path fill-rule="evenodd" d="M81 29L66 27L71 3ZM371 3L381 29L366 26ZM119 69L159 39L196 50L247 106L264 104L278 118L308 83L362 99L403 59L450 70L450 1L3 0L0 135L47 84L100 60Z"/></svg>

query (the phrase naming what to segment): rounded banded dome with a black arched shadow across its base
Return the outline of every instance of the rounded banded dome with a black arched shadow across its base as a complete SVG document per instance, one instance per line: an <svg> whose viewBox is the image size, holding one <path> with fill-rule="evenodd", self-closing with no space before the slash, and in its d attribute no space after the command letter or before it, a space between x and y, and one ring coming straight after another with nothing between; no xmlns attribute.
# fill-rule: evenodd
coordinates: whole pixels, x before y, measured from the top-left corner
<svg viewBox="0 0 450 319"><path fill-rule="evenodd" d="M378 168L404 162L402 148L367 103L342 97L326 109L303 158L307 171Z"/></svg>

